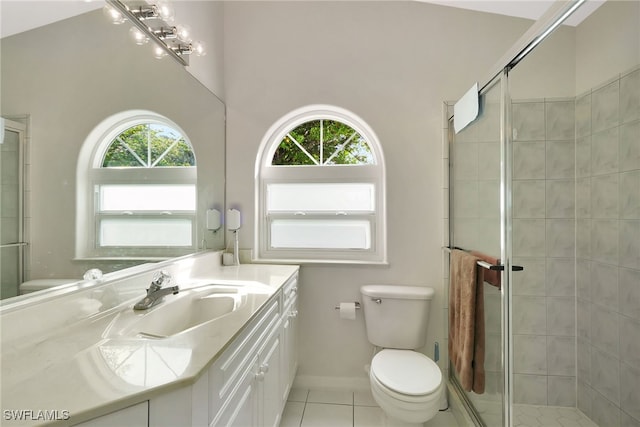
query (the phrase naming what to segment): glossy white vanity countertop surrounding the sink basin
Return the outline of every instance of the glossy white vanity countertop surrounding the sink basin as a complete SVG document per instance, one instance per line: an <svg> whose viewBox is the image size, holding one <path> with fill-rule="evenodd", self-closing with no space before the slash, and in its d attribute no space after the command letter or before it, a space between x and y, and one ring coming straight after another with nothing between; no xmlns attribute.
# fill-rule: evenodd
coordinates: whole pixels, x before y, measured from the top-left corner
<svg viewBox="0 0 640 427"><path fill-rule="evenodd" d="M63 411L68 411L69 420L53 424L76 424L194 383L297 270L297 266L290 265L247 264L200 271L183 279L183 283L176 281L181 291L207 281L257 282L270 295L245 309L162 339L141 339L109 332L123 310L124 313L133 311L133 304L145 293L141 288L133 296L135 292L126 280L113 286L100 285L92 290L71 292L54 301L40 302L39 306L27 305L21 310L2 313L0 406L3 413L0 424L51 423L32 419L8 420L7 410L31 410L30 418L44 410L58 411L59 418L65 418ZM114 298L109 295L114 290L117 294L122 292ZM167 296L162 304L172 297ZM108 299L115 300L116 303L111 303L115 305L105 303ZM38 307L42 309L41 316ZM58 313L55 319L48 319L51 310L77 310L82 315L79 319L72 316L65 320ZM24 329L31 333L22 337L10 333L5 340L4 332L8 328L20 328L22 321L29 323Z"/></svg>

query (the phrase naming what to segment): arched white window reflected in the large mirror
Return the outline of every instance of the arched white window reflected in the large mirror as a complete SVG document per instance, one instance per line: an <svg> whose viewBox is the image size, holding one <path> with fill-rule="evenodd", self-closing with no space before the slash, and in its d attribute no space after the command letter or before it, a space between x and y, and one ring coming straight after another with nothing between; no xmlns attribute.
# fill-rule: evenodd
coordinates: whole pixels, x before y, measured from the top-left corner
<svg viewBox="0 0 640 427"><path fill-rule="evenodd" d="M105 120L87 144L91 154L81 154L78 165L84 191L78 191L77 231L86 236L77 239L78 255L193 252L196 160L184 132L165 117L134 111Z"/></svg>

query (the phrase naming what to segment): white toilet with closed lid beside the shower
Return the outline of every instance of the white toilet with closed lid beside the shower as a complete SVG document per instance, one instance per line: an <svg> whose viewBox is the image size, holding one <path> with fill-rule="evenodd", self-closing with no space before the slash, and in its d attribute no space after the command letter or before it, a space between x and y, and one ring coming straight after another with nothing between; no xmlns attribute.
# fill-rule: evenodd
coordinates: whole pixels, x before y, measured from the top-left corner
<svg viewBox="0 0 640 427"><path fill-rule="evenodd" d="M373 398L384 411L388 426L421 426L438 413L444 399L440 368L415 351L426 342L434 290L366 285L360 293L367 338L382 348L369 369Z"/></svg>

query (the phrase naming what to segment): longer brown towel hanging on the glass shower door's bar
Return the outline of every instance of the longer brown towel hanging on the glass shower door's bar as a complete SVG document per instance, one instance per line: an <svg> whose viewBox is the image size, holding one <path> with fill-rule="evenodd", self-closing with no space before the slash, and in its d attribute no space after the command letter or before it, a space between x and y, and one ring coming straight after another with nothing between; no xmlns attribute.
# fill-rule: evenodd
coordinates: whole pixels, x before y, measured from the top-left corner
<svg viewBox="0 0 640 427"><path fill-rule="evenodd" d="M462 388L484 393L483 268L478 257L451 251L449 286L449 359Z"/></svg>

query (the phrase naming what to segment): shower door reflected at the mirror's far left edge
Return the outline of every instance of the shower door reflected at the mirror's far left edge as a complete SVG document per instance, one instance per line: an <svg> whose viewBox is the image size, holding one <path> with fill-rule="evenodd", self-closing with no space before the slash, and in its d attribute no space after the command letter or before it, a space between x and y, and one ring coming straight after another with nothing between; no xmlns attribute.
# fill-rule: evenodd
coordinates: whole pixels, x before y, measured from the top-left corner
<svg viewBox="0 0 640 427"><path fill-rule="evenodd" d="M23 272L24 127L4 121L0 144L0 298L18 295Z"/></svg>

